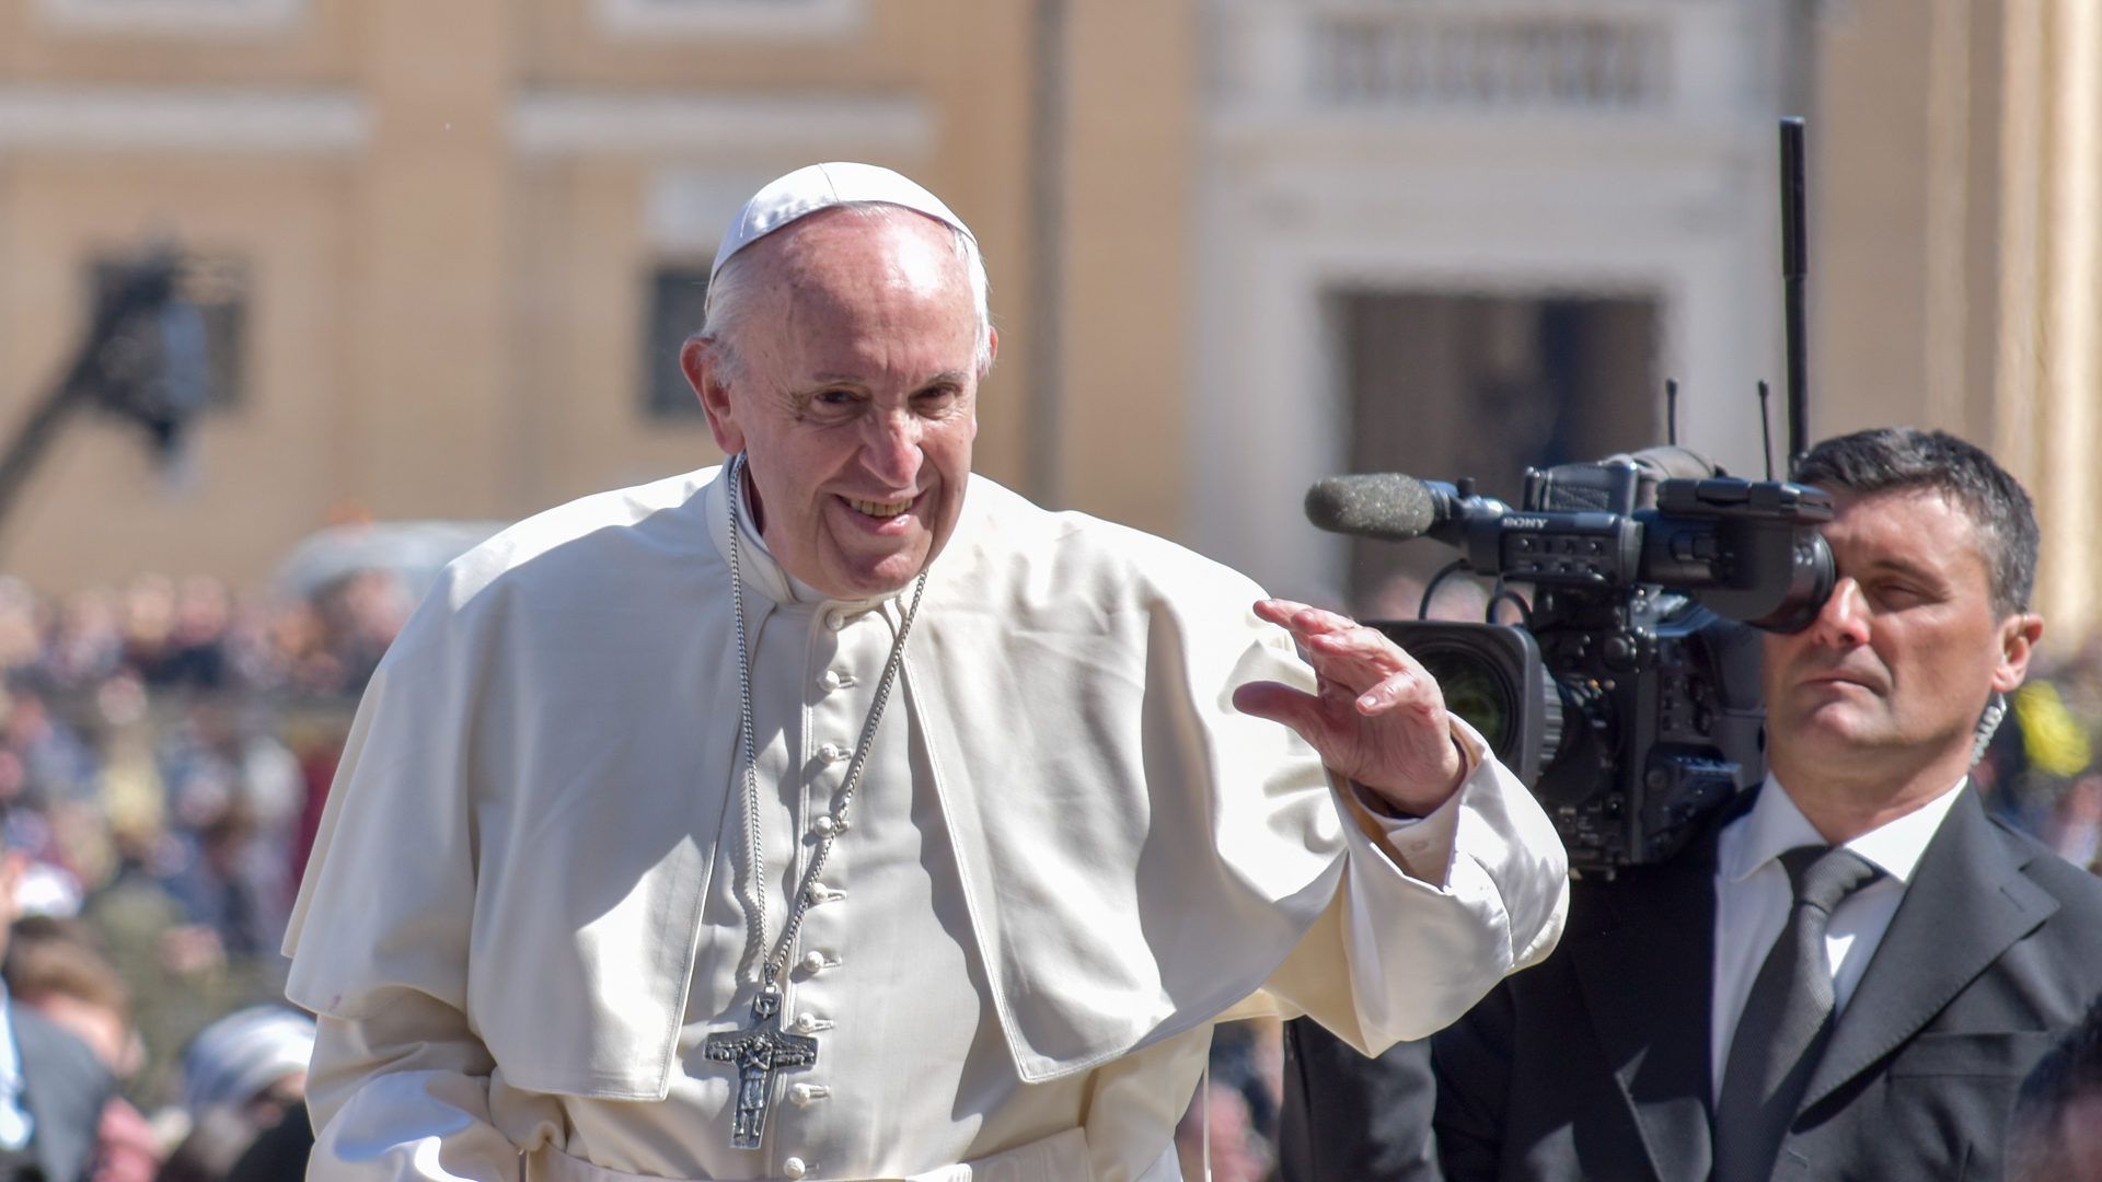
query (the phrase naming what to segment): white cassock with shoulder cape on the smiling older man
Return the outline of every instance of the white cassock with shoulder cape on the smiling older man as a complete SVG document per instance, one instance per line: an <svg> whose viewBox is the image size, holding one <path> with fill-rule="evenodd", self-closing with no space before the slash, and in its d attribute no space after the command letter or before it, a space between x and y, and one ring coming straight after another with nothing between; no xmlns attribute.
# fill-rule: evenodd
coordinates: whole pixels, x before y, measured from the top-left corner
<svg viewBox="0 0 2102 1182"><path fill-rule="evenodd" d="M830 602L740 536L771 944L910 589ZM1312 686L1253 583L973 475L790 953L818 1060L731 1148L727 538L719 469L589 496L458 559L389 650L286 938L311 1178L1167 1180L1221 1010L1268 986L1381 1049L1560 934L1562 845L1495 759L1375 818L1234 711Z"/></svg>

